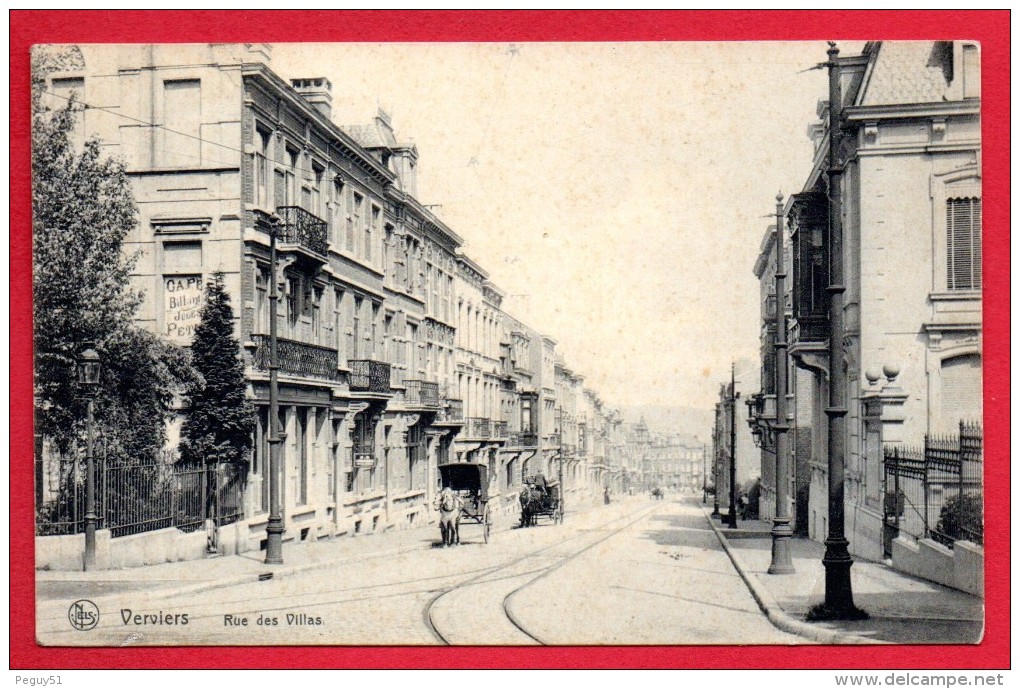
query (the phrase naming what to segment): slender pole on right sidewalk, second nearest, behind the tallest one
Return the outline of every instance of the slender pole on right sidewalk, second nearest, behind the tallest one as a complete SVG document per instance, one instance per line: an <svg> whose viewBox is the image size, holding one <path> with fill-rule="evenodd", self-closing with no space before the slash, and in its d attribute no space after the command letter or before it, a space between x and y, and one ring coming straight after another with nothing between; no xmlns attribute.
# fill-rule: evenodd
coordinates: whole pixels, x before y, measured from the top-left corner
<svg viewBox="0 0 1020 689"><path fill-rule="evenodd" d="M775 196L775 516L768 573L794 574L789 554L789 426L786 423L786 266L783 253L782 194Z"/></svg>

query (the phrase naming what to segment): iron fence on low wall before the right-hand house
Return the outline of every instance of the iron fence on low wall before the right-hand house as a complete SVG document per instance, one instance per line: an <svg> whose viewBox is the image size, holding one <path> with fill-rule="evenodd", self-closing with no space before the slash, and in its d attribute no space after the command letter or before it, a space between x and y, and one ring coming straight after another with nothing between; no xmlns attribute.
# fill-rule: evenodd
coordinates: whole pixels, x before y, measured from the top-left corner
<svg viewBox="0 0 1020 689"><path fill-rule="evenodd" d="M983 541L981 427L961 423L956 436L925 435L921 447L886 447L885 550L900 534L949 547Z"/></svg>

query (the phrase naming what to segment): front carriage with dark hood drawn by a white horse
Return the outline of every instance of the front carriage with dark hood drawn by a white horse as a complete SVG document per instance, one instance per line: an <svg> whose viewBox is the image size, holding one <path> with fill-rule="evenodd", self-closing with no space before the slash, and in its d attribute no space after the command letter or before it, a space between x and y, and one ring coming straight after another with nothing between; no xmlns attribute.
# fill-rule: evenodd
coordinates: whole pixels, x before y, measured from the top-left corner
<svg viewBox="0 0 1020 689"><path fill-rule="evenodd" d="M489 469L484 464L451 462L440 464L442 490L436 496L440 510L440 534L444 545L460 543L460 523L481 526L486 543L493 531L493 512L489 507Z"/></svg>

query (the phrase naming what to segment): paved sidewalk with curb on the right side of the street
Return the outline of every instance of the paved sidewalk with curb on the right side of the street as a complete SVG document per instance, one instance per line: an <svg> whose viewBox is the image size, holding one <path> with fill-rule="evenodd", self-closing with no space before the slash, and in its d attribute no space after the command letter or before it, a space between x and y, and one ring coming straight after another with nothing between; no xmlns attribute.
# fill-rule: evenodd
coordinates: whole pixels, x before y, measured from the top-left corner
<svg viewBox="0 0 1020 689"><path fill-rule="evenodd" d="M758 604L779 629L819 643L970 644L981 640L984 601L880 563L854 558L854 603L869 619L808 623L808 610L825 598L825 546L790 539L793 575L770 575L772 525L741 521L737 529L705 516Z"/></svg>

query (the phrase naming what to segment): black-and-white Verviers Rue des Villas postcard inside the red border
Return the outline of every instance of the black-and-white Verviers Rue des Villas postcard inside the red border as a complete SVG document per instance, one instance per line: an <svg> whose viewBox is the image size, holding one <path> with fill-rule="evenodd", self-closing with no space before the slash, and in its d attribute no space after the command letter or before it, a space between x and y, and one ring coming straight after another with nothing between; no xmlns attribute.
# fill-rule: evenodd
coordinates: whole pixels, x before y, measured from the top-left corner
<svg viewBox="0 0 1020 689"><path fill-rule="evenodd" d="M32 60L40 644L981 641L978 44Z"/></svg>

